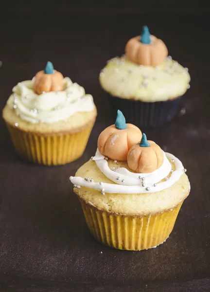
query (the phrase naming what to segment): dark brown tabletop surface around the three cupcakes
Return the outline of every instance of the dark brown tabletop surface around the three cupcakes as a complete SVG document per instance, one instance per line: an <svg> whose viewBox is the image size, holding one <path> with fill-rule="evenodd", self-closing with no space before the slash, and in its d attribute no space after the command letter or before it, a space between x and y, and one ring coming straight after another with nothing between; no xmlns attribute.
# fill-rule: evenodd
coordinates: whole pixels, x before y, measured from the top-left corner
<svg viewBox="0 0 210 292"><path fill-rule="evenodd" d="M83 157L64 166L20 159L0 120L0 292L210 291L209 17L67 13L38 19L19 13L0 21L1 109L12 87L48 60L84 86L98 109ZM164 244L129 252L91 237L69 177L94 155L99 133L113 123L99 71L107 59L123 54L144 24L192 77L175 120L146 130L183 162L192 190Z"/></svg>

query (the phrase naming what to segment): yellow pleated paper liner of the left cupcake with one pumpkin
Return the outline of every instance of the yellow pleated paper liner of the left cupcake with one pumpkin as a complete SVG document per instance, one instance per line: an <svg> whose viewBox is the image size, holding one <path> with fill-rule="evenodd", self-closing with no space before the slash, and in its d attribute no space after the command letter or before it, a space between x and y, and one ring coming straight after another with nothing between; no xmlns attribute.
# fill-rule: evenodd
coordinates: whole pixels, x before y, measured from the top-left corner
<svg viewBox="0 0 210 292"><path fill-rule="evenodd" d="M72 162L85 151L93 128L61 136L29 133L7 124L16 152L35 164L58 165Z"/></svg>

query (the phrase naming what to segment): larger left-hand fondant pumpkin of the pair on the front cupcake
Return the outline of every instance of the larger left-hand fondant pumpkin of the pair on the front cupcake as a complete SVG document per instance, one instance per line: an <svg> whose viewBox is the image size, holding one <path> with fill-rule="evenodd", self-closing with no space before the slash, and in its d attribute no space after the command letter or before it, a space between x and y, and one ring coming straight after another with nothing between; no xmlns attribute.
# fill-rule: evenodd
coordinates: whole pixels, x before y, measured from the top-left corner
<svg viewBox="0 0 210 292"><path fill-rule="evenodd" d="M129 149L142 137L138 127L126 124L123 113L118 110L115 125L105 128L98 138L99 152L113 160L127 160Z"/></svg>

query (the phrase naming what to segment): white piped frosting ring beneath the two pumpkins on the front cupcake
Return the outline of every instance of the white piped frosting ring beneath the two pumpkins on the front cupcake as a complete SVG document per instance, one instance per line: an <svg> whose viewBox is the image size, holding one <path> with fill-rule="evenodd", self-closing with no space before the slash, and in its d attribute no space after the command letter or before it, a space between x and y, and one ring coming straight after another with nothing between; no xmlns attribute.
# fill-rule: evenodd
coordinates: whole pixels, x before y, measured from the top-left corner
<svg viewBox="0 0 210 292"><path fill-rule="evenodd" d="M178 158L176 158L174 155L165 152L163 152L163 155L163 164L159 169L152 173L133 173L124 167L119 167L115 171L111 170L107 161L105 160L105 156L100 154L99 150L97 149L96 155L92 158L92 160L95 161L96 165L102 171L102 173L114 183L94 183L86 181L81 177L70 177L70 181L73 184L85 186L99 191L104 189L103 192L110 194L141 194L162 191L177 182L183 174L184 169L181 161L178 160ZM175 170L171 173L171 176L168 178L168 180L158 183L165 179L171 171L171 164L168 159L174 159ZM139 178L139 176L141 178L145 178L145 186L142 186L142 180ZM119 178L119 180L116 180L116 178ZM155 183L157 183L156 186L154 186Z"/></svg>

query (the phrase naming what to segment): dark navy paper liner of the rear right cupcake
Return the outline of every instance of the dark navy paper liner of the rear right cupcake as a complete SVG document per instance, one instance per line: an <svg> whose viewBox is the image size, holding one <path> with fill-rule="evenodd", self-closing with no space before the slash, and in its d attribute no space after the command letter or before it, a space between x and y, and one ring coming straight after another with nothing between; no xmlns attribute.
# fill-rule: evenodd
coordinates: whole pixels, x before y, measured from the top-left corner
<svg viewBox="0 0 210 292"><path fill-rule="evenodd" d="M113 118L121 110L126 123L139 127L160 127L172 121L179 108L181 97L158 102L142 102L109 95Z"/></svg>

